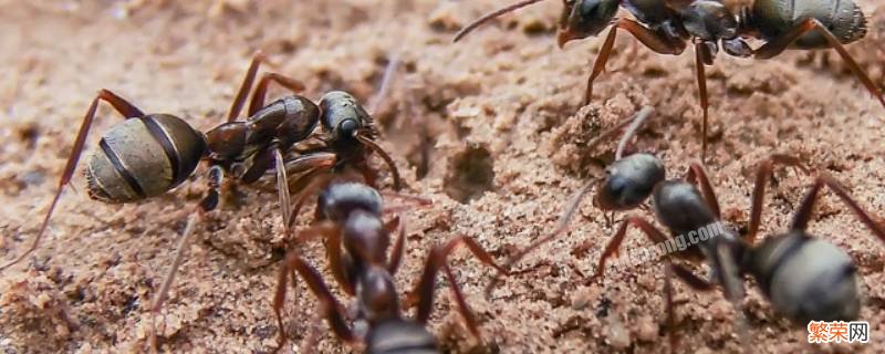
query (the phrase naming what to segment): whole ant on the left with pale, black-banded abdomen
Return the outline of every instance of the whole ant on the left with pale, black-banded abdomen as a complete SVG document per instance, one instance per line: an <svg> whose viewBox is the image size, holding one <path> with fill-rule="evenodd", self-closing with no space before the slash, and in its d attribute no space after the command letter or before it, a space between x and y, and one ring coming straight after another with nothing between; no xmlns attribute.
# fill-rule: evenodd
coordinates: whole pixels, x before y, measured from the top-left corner
<svg viewBox="0 0 885 354"><path fill-rule="evenodd" d="M367 147L378 153L388 164L395 187L399 188L399 175L393 159L373 142L376 132L372 119L352 95L333 91L326 93L317 105L294 94L304 88L301 82L277 73L264 73L252 91L262 62L267 62L267 58L260 52L256 53L230 106L227 122L206 134L170 114L145 114L117 94L101 90L86 111L58 190L37 237L24 253L0 267L0 271L22 261L38 248L53 210L74 174L100 101L111 104L126 119L113 125L102 135L98 144L101 149L92 155L84 170L92 199L107 204L150 199L171 190L192 176L200 160L206 160L208 165L206 178L209 190L188 217L173 264L155 295L152 305L154 314L162 309L195 226L206 212L216 209L225 176L232 176L237 181L249 185L259 180L267 171L275 169L277 192L287 229L291 218L289 174L302 174L303 178L350 165L367 176L368 183L374 184L375 171L366 163ZM268 86L272 82L293 94L266 104ZM237 121L250 91L252 95L248 118ZM322 126L322 147L294 159L284 158L296 144L314 134L317 124ZM295 188L300 188L299 180L293 183ZM153 332L150 342L155 348Z"/></svg>

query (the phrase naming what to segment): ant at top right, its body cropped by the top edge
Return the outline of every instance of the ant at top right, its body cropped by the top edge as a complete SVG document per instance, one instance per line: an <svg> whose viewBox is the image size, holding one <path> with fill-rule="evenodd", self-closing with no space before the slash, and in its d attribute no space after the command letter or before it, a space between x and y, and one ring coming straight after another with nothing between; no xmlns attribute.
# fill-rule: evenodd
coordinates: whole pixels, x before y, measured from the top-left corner
<svg viewBox="0 0 885 354"><path fill-rule="evenodd" d="M490 12L461 29L455 42L479 25L542 0L523 0ZM707 154L708 97L704 65L712 65L721 45L732 56L771 59L788 49L835 49L847 66L885 107L882 90L870 80L843 44L866 35L866 18L852 0L563 0L558 29L560 48L569 41L595 37L611 27L587 77L584 104L593 96L593 82L605 70L617 29L632 34L658 54L679 55L695 44L701 124L701 160ZM618 7L635 20L616 18ZM748 39L763 45L751 49ZM721 43L721 44L720 44Z"/></svg>

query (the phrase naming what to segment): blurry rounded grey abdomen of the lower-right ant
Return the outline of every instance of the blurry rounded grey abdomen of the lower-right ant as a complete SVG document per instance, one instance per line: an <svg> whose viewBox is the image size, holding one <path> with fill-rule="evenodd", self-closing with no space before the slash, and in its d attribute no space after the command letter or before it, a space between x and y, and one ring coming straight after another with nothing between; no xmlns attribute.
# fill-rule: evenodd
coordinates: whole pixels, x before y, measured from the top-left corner
<svg viewBox="0 0 885 354"><path fill-rule="evenodd" d="M766 239L749 261L766 296L796 323L857 319L860 277L848 254L834 244L792 231Z"/></svg>

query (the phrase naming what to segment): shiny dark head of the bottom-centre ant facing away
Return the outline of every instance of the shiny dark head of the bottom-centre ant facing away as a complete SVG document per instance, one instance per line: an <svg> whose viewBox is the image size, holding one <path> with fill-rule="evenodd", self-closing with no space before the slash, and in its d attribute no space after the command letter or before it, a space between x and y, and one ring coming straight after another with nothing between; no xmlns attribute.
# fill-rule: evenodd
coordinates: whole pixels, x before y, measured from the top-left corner
<svg viewBox="0 0 885 354"><path fill-rule="evenodd" d="M377 190L364 184L331 183L320 194L317 207L324 218L343 222L355 210L379 216L382 198Z"/></svg>

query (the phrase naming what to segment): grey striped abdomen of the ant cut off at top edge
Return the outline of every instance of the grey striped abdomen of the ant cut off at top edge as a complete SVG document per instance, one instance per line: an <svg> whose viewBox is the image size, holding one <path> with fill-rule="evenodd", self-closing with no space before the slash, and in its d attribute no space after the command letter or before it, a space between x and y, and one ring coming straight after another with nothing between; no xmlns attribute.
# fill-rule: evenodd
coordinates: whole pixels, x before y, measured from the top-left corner
<svg viewBox="0 0 885 354"><path fill-rule="evenodd" d="M815 18L843 44L866 35L866 18L852 0L757 0L753 4L752 22L766 40L789 32L802 20ZM800 37L792 48L830 48L816 31Z"/></svg>

